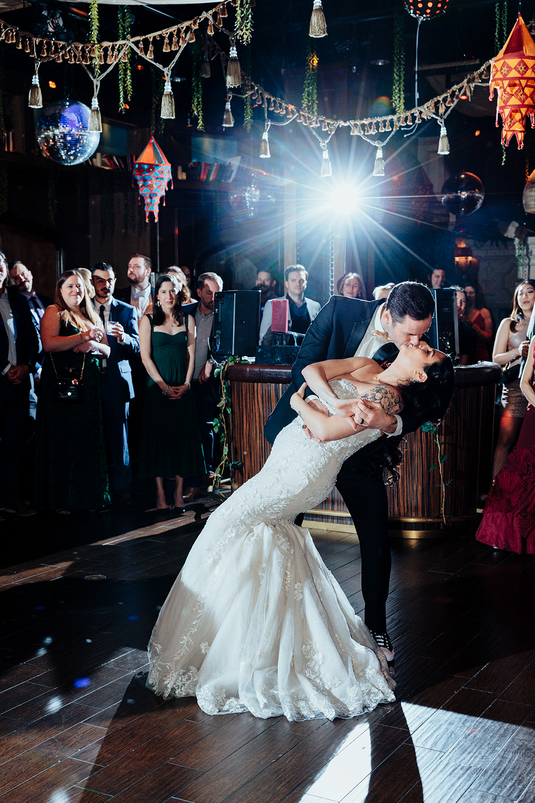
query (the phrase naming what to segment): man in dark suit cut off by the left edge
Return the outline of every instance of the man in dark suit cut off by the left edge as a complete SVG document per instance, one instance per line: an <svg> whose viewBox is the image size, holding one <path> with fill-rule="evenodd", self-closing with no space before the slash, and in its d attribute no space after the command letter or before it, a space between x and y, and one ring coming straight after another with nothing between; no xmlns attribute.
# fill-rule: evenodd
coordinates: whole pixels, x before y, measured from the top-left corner
<svg viewBox="0 0 535 803"><path fill-rule="evenodd" d="M7 261L0 251L0 475L6 513L16 516L34 515L22 500L22 446L38 353L30 309L7 288Z"/></svg>

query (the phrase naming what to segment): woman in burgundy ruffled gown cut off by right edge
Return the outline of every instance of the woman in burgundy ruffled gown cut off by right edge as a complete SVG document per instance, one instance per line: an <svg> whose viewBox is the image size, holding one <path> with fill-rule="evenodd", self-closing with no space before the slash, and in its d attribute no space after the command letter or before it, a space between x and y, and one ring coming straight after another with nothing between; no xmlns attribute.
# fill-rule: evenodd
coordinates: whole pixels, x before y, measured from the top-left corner
<svg viewBox="0 0 535 803"><path fill-rule="evenodd" d="M530 359L521 378L528 410L516 449L488 492L483 520L476 539L488 546L518 554L535 554L535 337L529 344Z"/></svg>

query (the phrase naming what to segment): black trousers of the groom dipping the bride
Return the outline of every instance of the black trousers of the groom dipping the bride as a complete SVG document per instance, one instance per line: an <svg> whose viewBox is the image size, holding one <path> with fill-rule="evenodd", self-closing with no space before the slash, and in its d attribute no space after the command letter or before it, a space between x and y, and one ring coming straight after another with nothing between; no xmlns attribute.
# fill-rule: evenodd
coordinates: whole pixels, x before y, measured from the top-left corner
<svg viewBox="0 0 535 803"><path fill-rule="evenodd" d="M388 500L383 468L371 471L350 458L338 473L336 487L351 514L359 536L362 560L364 621L370 630L387 630L387 597L391 553L388 535Z"/></svg>

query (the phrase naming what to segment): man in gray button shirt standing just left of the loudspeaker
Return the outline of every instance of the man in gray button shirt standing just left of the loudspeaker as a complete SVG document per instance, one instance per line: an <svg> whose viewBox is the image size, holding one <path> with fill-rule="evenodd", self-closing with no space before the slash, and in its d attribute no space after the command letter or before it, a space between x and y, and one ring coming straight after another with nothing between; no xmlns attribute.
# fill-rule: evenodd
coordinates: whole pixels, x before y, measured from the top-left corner
<svg viewBox="0 0 535 803"><path fill-rule="evenodd" d="M213 366L216 364L210 356L209 338L213 327L213 300L217 292L223 289L223 279L217 273L202 273L197 279L197 296L199 303L195 311L197 340L195 341L195 370L193 371L193 393L197 407L197 420L201 432L202 447L205 452L205 463L208 483L215 469L213 419L217 416L219 394L217 382L213 377ZM191 500L199 492L201 477L189 477L184 499Z"/></svg>

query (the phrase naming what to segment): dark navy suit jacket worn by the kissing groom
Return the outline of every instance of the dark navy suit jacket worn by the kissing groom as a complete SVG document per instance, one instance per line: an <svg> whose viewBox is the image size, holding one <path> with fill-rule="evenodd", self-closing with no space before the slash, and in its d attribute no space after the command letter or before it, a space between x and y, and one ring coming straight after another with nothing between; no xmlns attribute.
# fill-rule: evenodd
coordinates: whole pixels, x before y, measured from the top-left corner
<svg viewBox="0 0 535 803"><path fill-rule="evenodd" d="M292 366L292 384L279 399L270 418L265 422L265 438L274 442L278 433L286 424L292 421L296 413L290 407L290 396L298 390L305 381L302 369L306 365L321 360L339 360L342 357L354 357L368 325L375 314L375 310L385 304L385 300L362 301L344 296L332 296L329 302L321 309L319 315L310 324L305 340L299 349L297 360ZM395 352L397 353L397 349ZM380 361L380 360L379 360ZM411 416L401 413L403 421L403 434L413 432L419 426ZM378 438L369 446L364 447L355 454L355 459L365 458L371 451L375 451L384 438ZM396 438L397 440L397 438ZM355 455L354 455L355 457Z"/></svg>

